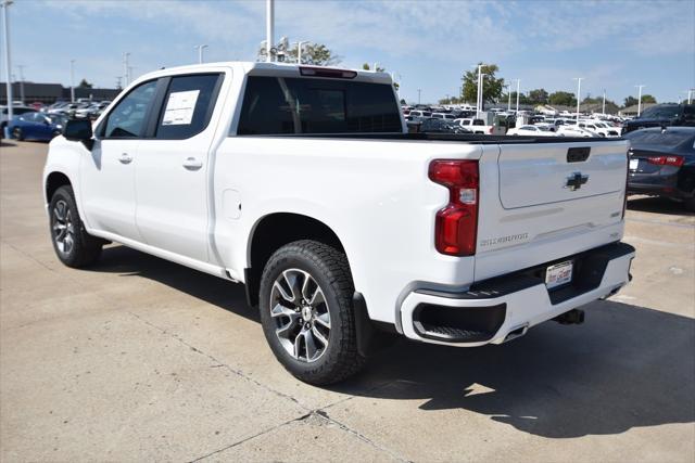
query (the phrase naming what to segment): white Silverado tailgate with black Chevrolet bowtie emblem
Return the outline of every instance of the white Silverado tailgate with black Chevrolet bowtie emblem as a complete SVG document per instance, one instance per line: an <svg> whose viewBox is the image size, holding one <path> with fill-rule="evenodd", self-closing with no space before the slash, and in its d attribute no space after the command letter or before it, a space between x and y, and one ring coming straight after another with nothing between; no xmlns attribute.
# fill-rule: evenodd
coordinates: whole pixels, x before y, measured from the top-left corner
<svg viewBox="0 0 695 463"><path fill-rule="evenodd" d="M484 146L476 281L622 237L628 142Z"/></svg>

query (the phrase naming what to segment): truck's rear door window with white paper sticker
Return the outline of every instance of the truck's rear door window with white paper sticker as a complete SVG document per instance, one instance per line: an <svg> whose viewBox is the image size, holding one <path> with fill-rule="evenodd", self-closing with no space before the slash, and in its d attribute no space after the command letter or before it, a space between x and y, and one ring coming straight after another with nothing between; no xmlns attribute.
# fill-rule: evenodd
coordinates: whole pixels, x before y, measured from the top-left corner
<svg viewBox="0 0 695 463"><path fill-rule="evenodd" d="M220 74L172 77L155 137L181 140L205 130L217 100L220 81Z"/></svg>

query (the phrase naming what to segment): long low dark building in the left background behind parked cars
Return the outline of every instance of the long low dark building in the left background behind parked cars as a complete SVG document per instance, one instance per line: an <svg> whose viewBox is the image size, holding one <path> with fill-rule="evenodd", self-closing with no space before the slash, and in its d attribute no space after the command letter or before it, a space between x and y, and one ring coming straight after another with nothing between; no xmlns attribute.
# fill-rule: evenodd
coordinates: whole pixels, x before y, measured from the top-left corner
<svg viewBox="0 0 695 463"><path fill-rule="evenodd" d="M24 91L22 87L24 87ZM0 104L8 104L7 89L5 82L0 82ZM121 93L121 89L75 87L75 99L113 100L118 93ZM52 104L56 101L70 101L71 99L70 87L63 87L60 83L12 82L12 100L22 101L22 94L24 94L24 104L35 102Z"/></svg>

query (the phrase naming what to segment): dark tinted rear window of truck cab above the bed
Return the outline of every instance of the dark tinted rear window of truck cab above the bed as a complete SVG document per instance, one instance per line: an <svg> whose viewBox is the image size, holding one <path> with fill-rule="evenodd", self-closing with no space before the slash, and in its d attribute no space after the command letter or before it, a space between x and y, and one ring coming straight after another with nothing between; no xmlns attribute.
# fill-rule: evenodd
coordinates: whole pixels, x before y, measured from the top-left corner
<svg viewBox="0 0 695 463"><path fill-rule="evenodd" d="M238 134L400 132L388 83L249 77Z"/></svg>

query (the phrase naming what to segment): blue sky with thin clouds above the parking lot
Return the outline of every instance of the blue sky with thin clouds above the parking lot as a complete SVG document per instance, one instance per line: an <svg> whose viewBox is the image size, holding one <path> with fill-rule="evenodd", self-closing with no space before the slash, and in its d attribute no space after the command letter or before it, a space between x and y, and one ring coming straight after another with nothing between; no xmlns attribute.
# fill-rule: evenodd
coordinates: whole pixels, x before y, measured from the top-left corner
<svg viewBox="0 0 695 463"><path fill-rule="evenodd" d="M26 80L114 87L122 54L134 74L197 61L255 59L265 1L41 1L10 7L13 73ZM276 1L276 38L326 43L342 67L378 62L401 76L402 97L457 94L482 61L521 90L574 91L622 102L637 83L658 101L695 88L695 1ZM3 62L4 66L4 62ZM3 74L4 76L4 74Z"/></svg>

